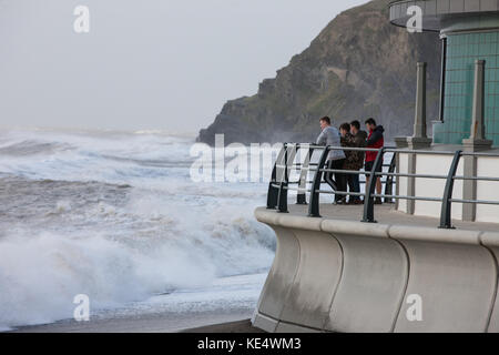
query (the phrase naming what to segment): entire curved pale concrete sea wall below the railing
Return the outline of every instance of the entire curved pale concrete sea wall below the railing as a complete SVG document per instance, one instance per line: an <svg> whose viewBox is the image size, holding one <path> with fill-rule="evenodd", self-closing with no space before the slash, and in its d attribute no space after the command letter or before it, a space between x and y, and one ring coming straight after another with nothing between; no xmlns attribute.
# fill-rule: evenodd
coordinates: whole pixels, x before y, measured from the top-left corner
<svg viewBox="0 0 499 355"><path fill-rule="evenodd" d="M264 331L499 332L499 233L256 217L278 239L254 317Z"/></svg>

